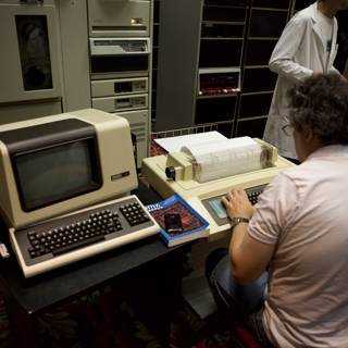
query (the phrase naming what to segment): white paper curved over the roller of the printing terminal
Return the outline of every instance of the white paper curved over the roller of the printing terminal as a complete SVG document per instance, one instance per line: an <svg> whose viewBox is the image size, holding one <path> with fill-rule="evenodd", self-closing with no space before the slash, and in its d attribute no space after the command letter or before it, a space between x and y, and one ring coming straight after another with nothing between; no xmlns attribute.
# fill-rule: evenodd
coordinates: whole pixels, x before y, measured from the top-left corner
<svg viewBox="0 0 348 348"><path fill-rule="evenodd" d="M262 147L250 137L184 146L194 160L195 178L206 183L260 170Z"/></svg>

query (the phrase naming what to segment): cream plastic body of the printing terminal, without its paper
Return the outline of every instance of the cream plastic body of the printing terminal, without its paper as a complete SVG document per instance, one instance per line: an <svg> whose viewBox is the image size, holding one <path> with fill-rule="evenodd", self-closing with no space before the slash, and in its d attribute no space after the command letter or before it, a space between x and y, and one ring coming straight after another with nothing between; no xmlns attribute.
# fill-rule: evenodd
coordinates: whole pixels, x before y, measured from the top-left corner
<svg viewBox="0 0 348 348"><path fill-rule="evenodd" d="M149 184L163 198L182 196L209 223L210 234L226 232L231 224L225 215L221 197L231 188L244 188L254 203L257 196L282 170L293 166L277 154L277 149L260 139L253 139L265 149L268 163L261 169L199 182L195 175L195 161L187 152L172 152L142 160L141 172ZM243 171L243 170L241 170ZM240 172L240 170L239 170Z"/></svg>

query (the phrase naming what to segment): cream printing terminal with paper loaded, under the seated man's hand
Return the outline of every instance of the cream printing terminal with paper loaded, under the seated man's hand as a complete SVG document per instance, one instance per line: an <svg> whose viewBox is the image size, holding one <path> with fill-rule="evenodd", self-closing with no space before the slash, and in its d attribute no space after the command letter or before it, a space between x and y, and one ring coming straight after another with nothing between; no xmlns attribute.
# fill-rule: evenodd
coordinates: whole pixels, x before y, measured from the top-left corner
<svg viewBox="0 0 348 348"><path fill-rule="evenodd" d="M238 141L239 139L241 138L227 140ZM273 177L279 171L294 165L279 157L276 148L272 145L260 139L253 139L253 141L260 146L256 162L249 161L250 148L248 146L250 140L247 141L248 146L240 146L235 149L235 152L225 156L225 164L223 164L224 159L222 162L216 159L216 153L221 152L211 145L212 163L210 169L212 174L214 171L219 171L221 174L214 179L207 178L211 173L206 173L206 177L202 176L203 166L197 166L197 158L186 151L185 147L179 152L144 159L141 172L153 189L163 198L173 194L183 197L209 222L211 235L226 232L231 229L231 224L221 201L222 196L231 188L244 188L248 192L250 201L256 203L258 196ZM181 142L183 146L185 145L184 139ZM203 147L204 145L201 145L198 148L202 150ZM208 137L207 148L210 148ZM243 158L243 153L246 154L245 158ZM207 153L204 156L207 158ZM236 162L235 166L234 162Z"/></svg>

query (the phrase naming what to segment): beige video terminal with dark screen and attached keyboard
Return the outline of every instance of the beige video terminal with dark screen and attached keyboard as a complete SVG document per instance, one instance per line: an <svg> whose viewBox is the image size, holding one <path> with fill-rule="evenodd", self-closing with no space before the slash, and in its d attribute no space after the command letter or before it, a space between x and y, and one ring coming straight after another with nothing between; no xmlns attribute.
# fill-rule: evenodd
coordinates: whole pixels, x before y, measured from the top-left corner
<svg viewBox="0 0 348 348"><path fill-rule="evenodd" d="M2 125L0 175L0 211L10 228L10 241L25 276L159 232L159 226L136 197L127 197L137 187L137 174L129 124L123 117L86 109ZM136 207L134 212L132 207ZM142 220L139 217L136 223L132 216L129 220L128 208ZM76 212L78 209L87 209L88 214ZM92 220L100 211L107 211L103 226ZM74 250L74 245L63 250L66 254L55 256L54 251L52 259L52 252L40 253L29 261L29 231L41 237L58 231L55 237L60 238L60 233L71 232L74 224L84 221L92 227L99 226L103 237L96 240L90 239L90 234L86 237L89 227L84 235L78 235L77 231L74 238L83 238L80 249ZM114 231L119 225L122 232ZM91 241L94 244L88 245ZM35 243L32 248L35 251L44 247Z"/></svg>

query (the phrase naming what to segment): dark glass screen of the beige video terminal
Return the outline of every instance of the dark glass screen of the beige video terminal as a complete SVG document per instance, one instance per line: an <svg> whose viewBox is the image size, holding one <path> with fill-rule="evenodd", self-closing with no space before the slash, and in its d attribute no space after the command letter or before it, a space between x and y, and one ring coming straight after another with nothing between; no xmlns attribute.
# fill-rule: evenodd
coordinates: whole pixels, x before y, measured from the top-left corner
<svg viewBox="0 0 348 348"><path fill-rule="evenodd" d="M13 166L24 211L101 186L92 138L16 154Z"/></svg>

